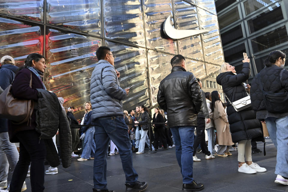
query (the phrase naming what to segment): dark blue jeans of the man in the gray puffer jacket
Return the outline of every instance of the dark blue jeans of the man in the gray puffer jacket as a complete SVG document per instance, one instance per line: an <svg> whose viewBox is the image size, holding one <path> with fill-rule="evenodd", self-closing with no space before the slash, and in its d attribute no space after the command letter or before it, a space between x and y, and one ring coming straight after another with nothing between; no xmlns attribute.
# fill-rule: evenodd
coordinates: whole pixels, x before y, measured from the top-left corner
<svg viewBox="0 0 288 192"><path fill-rule="evenodd" d="M113 140L119 149L126 183L135 184L138 174L133 168L131 142L128 127L123 116L99 118L94 121L95 126L95 159L94 159L94 188L107 190L107 150L109 140Z"/></svg>

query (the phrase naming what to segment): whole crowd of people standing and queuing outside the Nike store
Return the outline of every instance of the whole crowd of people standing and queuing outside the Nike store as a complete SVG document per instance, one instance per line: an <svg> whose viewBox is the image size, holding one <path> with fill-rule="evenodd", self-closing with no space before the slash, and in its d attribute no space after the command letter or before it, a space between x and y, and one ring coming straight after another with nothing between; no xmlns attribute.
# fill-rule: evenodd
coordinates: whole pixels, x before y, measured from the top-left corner
<svg viewBox="0 0 288 192"><path fill-rule="evenodd" d="M218 91L204 92L201 80L186 71L185 58L175 55L171 59L171 73L159 85L159 107L155 107L153 116L144 105L123 111L122 100L128 96L129 88L120 87L120 73L114 67L116 56L106 46L99 47L96 56L99 61L91 76L91 102L84 104L81 121L73 115L75 108L65 109L64 99L57 98L42 81L47 67L42 55L28 55L21 68L15 66L10 56L1 58L1 92L10 86L15 99L32 100L35 104L30 106L33 111L25 122L0 119L2 189L24 191L25 178L30 176L32 191L41 192L44 174L58 173L59 156L66 168L71 158L81 154L78 161L94 161L93 191L113 192L107 189L107 157L119 154L126 191L143 191L148 183L138 181L132 153L141 155L147 146L152 151L175 147L183 176L182 191L199 191L204 184L193 179L193 161L201 161L196 156L198 149L206 160L214 159L215 155L226 158L232 155L230 151L236 151L237 143L238 172L266 171L252 161L251 155L251 142L265 142L261 123L266 123L277 148L274 182L288 185L288 71L283 69L286 57L283 52L269 54L266 67L254 77L251 86L244 84L250 77L248 57L237 73L235 67L224 63L216 81L223 88L225 103ZM249 95L251 107L235 108L233 102ZM51 106L48 107L51 111L41 110L39 106L43 105ZM53 116L49 115L52 112ZM48 115L44 118L39 114ZM47 122L51 128L44 126ZM19 152L14 143L19 143ZM46 171L45 159L50 165Z"/></svg>

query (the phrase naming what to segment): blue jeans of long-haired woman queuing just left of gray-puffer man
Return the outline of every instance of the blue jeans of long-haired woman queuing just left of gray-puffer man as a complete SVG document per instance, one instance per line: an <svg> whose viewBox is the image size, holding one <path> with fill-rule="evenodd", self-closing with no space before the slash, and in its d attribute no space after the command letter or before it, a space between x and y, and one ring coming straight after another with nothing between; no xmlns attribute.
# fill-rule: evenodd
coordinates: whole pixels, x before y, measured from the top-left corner
<svg viewBox="0 0 288 192"><path fill-rule="evenodd" d="M90 157L94 157L95 153L95 141L93 139L95 133L94 127L89 127L85 132L84 137L84 149L81 155L83 159L89 159Z"/></svg>

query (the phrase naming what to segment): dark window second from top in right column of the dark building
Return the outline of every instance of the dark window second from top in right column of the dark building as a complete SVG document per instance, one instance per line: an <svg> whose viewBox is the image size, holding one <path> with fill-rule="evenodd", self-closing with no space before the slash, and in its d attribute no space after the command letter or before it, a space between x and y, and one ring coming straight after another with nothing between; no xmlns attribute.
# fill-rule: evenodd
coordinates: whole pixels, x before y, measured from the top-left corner
<svg viewBox="0 0 288 192"><path fill-rule="evenodd" d="M257 13L247 21L250 33L256 32L283 19L281 7L275 5L262 13Z"/></svg>

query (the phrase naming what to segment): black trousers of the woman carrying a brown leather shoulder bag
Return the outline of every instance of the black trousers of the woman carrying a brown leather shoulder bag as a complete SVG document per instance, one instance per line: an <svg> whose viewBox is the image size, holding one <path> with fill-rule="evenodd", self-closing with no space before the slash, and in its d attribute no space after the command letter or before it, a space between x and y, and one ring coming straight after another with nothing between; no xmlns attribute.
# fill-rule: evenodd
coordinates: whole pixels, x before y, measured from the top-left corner
<svg viewBox="0 0 288 192"><path fill-rule="evenodd" d="M46 157L46 148L44 140L39 141L39 136L35 130L21 131L16 134L19 139L19 161L14 169L10 192L20 192L23 182L30 167L31 191L44 191L44 159Z"/></svg>

